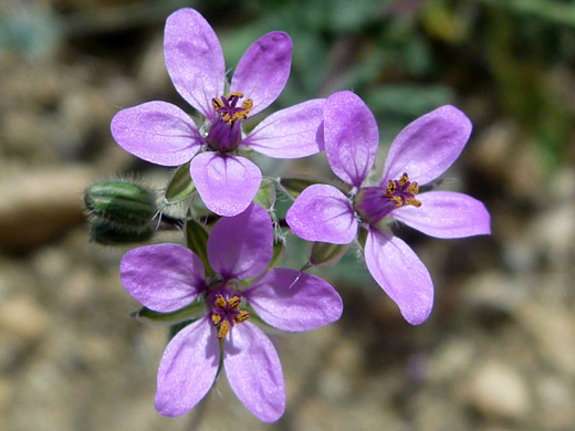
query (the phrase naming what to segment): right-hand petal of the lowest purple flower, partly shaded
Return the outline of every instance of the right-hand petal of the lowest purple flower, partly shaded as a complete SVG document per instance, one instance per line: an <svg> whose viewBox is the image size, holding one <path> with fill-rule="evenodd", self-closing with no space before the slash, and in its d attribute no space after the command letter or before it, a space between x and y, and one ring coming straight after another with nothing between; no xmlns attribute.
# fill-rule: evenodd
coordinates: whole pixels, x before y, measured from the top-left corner
<svg viewBox="0 0 575 431"><path fill-rule="evenodd" d="M282 330L315 329L343 312L342 298L327 282L295 270L268 271L244 296L261 318Z"/></svg>

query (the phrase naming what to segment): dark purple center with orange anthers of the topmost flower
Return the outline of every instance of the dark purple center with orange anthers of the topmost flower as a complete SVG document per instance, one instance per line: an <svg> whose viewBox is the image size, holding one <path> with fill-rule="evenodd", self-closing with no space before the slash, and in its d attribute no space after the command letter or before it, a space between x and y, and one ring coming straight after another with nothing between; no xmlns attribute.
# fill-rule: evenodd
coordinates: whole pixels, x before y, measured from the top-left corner
<svg viewBox="0 0 575 431"><path fill-rule="evenodd" d="M247 98L241 106L238 106L240 98L243 98L243 94L236 92L211 99L213 109L219 114L206 138L212 149L228 153L233 151L241 144L241 122L248 118L253 101Z"/></svg>

